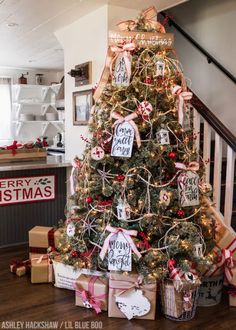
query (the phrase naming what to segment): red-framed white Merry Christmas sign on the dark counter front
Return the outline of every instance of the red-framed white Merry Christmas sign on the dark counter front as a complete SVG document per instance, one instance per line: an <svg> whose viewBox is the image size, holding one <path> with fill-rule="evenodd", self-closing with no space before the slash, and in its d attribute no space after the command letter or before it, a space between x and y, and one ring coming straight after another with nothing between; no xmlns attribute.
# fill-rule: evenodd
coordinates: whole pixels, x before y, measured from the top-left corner
<svg viewBox="0 0 236 330"><path fill-rule="evenodd" d="M55 175L0 179L0 205L55 199Z"/></svg>

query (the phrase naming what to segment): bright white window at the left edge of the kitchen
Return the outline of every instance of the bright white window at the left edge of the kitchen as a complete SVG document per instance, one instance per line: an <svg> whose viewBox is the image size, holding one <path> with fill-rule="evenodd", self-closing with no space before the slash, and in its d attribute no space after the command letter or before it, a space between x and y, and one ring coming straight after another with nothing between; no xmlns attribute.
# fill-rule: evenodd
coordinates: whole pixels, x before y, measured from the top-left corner
<svg viewBox="0 0 236 330"><path fill-rule="evenodd" d="M0 145L12 140L11 133L11 78L0 77Z"/></svg>

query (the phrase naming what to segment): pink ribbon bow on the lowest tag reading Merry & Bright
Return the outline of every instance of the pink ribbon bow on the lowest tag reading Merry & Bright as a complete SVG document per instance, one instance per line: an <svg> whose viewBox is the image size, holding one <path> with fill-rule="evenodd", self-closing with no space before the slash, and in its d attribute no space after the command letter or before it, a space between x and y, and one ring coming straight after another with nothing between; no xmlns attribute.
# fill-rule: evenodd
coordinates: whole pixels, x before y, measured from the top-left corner
<svg viewBox="0 0 236 330"><path fill-rule="evenodd" d="M138 258L141 258L141 253L138 251L136 245L134 244L131 236L137 236L137 230L127 230L124 228L119 228L119 227L112 227L110 225L106 226L106 230L110 232L110 234L107 236L103 243L102 250L99 254L100 258L103 260L105 258L105 255L107 253L108 247L109 247L109 242L110 239L117 235L118 233L121 233L126 241L129 243L129 246L133 250L133 252L138 256Z"/></svg>

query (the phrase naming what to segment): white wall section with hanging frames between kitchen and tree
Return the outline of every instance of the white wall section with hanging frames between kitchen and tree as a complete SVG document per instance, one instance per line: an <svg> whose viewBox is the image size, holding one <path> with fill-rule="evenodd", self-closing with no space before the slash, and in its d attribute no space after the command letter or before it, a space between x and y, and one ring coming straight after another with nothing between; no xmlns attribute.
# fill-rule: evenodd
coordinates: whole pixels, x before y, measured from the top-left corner
<svg viewBox="0 0 236 330"><path fill-rule="evenodd" d="M87 126L73 126L72 93L90 89L99 80L106 58L107 11L103 6L56 32L64 48L65 67L65 145L66 159L81 157L85 144L80 134L87 136ZM75 87L75 79L67 74L75 65L92 61L92 85Z"/></svg>

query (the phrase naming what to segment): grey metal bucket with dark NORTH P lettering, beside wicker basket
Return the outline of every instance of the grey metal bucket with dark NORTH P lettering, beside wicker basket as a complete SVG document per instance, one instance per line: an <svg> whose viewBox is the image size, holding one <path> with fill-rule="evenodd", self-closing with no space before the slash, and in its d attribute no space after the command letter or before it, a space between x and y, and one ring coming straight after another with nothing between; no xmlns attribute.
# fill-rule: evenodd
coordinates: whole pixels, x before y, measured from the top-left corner
<svg viewBox="0 0 236 330"><path fill-rule="evenodd" d="M203 277L199 288L198 306L214 306L221 302L224 275Z"/></svg>

